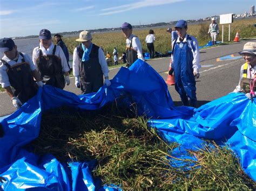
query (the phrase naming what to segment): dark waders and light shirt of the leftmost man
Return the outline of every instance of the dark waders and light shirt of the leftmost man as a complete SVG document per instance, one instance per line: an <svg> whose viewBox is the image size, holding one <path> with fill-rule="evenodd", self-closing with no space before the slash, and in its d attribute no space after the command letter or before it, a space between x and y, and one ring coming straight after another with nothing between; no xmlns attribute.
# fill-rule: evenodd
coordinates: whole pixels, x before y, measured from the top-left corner
<svg viewBox="0 0 256 191"><path fill-rule="evenodd" d="M18 53L14 60L3 56L0 61L0 82L3 88L14 88L14 96L22 103L36 95L38 86L33 80L32 71L36 67L25 53Z"/></svg>

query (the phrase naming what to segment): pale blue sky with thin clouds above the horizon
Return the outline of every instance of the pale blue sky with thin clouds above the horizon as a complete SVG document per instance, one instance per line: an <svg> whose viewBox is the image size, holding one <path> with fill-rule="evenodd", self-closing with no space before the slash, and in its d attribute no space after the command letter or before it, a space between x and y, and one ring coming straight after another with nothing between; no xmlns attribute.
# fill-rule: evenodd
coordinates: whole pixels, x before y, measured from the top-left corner
<svg viewBox="0 0 256 191"><path fill-rule="evenodd" d="M0 38L199 19L250 11L256 0L0 0ZM256 23L256 22L255 22Z"/></svg>

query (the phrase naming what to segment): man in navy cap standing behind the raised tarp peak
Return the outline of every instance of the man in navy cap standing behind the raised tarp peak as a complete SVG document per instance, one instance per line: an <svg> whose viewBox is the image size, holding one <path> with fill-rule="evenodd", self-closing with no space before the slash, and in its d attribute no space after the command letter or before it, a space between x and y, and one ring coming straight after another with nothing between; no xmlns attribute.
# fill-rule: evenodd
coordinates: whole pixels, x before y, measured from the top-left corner
<svg viewBox="0 0 256 191"><path fill-rule="evenodd" d="M142 44L139 38L132 34L132 25L130 23L123 23L121 29L126 37L126 67L129 68L137 59L144 60Z"/></svg>

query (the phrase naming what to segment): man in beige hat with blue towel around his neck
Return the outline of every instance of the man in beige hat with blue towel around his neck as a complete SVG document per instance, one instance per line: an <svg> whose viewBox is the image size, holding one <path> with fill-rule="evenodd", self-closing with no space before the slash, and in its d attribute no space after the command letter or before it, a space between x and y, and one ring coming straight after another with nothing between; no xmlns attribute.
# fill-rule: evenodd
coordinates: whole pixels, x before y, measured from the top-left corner
<svg viewBox="0 0 256 191"><path fill-rule="evenodd" d="M96 93L103 84L109 87L109 68L102 48L92 43L89 31L80 32L76 41L81 43L73 51L76 87L82 90L82 94Z"/></svg>

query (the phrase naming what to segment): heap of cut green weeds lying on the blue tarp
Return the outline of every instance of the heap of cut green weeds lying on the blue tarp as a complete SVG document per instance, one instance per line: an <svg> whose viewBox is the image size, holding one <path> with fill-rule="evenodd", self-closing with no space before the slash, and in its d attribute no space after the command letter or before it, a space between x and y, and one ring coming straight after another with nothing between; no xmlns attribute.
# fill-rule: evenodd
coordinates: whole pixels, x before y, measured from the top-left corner
<svg viewBox="0 0 256 191"><path fill-rule="evenodd" d="M52 153L62 162L97 159L93 175L124 190L255 188L227 147L206 143L203 149L188 151L197 160L173 158L177 143L165 143L145 117L113 106L47 111L30 146L36 154ZM177 167L174 161L183 165Z"/></svg>

